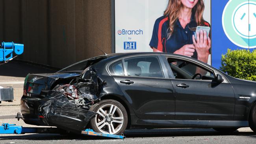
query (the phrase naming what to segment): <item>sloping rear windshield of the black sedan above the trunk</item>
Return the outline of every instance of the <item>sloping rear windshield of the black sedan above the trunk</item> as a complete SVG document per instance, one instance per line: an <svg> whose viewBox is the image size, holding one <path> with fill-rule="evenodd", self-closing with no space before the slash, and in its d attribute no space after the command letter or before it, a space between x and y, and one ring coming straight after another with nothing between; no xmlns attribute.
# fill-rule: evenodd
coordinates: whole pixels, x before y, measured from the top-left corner
<svg viewBox="0 0 256 144"><path fill-rule="evenodd" d="M93 57L93 58L85 59L83 61L79 61L78 63L74 63L70 66L67 66L66 68L63 68L62 70L59 70L58 72L79 72L79 73L81 73L88 66L98 63L99 61L106 59L106 58L107 57L104 56L104 57Z"/></svg>

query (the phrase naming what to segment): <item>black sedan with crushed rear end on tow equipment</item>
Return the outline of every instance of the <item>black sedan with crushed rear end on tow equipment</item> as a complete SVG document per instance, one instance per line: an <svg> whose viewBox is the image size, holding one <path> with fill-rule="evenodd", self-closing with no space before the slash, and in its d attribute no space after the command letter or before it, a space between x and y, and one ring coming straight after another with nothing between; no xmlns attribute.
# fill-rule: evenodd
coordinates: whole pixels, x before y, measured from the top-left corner
<svg viewBox="0 0 256 144"><path fill-rule="evenodd" d="M256 132L256 82L197 59L167 53L93 57L54 74L28 74L21 98L26 124L72 132L90 127L213 128Z"/></svg>

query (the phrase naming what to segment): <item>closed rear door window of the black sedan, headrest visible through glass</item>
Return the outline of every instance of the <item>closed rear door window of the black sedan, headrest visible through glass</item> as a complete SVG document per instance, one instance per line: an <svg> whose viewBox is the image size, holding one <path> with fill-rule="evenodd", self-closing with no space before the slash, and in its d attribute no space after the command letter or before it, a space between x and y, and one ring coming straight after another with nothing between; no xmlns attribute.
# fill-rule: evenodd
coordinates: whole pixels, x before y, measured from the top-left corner
<svg viewBox="0 0 256 144"><path fill-rule="evenodd" d="M142 56L124 59L128 76L163 78L157 56Z"/></svg>

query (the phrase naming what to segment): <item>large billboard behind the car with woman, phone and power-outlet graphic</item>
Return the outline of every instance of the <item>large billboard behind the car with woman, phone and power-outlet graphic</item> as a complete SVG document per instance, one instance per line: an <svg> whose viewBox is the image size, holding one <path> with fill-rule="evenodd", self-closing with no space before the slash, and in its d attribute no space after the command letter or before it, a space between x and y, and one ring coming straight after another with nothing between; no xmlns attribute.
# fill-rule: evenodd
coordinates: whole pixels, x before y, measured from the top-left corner
<svg viewBox="0 0 256 144"><path fill-rule="evenodd" d="M174 9L175 7L171 6L177 4L169 5L169 2L194 4L191 7L191 20L197 19L194 25L189 25L190 21L187 24L190 26L189 30L186 30L186 24L184 25L184 22L182 24L182 20L178 18L177 23L184 31L174 26L174 34L172 33L171 37L169 21L171 14L175 15L175 12L165 13L168 16L163 15L168 7ZM195 13L195 9L200 11L197 7L200 2L204 5L202 18L211 28L210 40L207 40L211 45L206 46L207 52L204 53L198 52L193 41L195 29L191 30L191 27L198 26L200 15ZM186 4L182 3L182 6L184 5ZM166 17L168 18L164 21ZM221 55L225 54L228 48L232 50L256 48L255 25L256 0L115 0L115 52L169 52L191 56L219 68ZM201 24L201 26L208 25ZM187 47L184 48L186 45ZM195 50L191 50L192 48ZM178 50L183 51L178 52ZM200 55L204 54L208 55L208 58L204 56L204 59L200 59Z"/></svg>

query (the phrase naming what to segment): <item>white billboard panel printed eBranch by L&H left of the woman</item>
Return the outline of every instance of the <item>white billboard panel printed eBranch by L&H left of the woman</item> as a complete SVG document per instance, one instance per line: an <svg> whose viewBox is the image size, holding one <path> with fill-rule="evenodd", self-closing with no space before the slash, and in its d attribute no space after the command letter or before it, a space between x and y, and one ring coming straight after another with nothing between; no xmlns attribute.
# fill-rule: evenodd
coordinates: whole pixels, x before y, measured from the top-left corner
<svg viewBox="0 0 256 144"><path fill-rule="evenodd" d="M115 0L115 52L152 52L154 22L168 0ZM154 8L152 8L154 7Z"/></svg>

